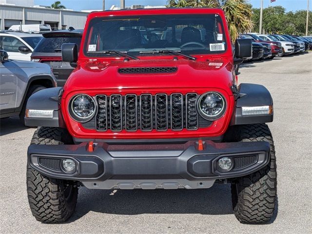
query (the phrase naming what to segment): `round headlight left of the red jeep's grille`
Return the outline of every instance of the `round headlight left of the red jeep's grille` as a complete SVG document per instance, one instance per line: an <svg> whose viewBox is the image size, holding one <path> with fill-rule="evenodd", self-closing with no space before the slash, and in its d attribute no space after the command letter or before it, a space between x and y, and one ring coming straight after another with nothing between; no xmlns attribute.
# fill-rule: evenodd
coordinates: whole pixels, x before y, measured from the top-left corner
<svg viewBox="0 0 312 234"><path fill-rule="evenodd" d="M94 116L95 110L95 102L89 95L79 94L70 101L69 111L71 117L79 122L90 120Z"/></svg>

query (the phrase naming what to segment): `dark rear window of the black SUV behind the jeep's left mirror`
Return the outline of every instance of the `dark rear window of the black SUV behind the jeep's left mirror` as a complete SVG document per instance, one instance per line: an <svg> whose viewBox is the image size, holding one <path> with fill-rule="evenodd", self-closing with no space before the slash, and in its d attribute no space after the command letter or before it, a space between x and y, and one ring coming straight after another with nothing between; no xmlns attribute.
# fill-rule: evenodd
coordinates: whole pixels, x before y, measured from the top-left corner
<svg viewBox="0 0 312 234"><path fill-rule="evenodd" d="M78 49L80 46L81 37L55 37L42 38L36 46L34 52L38 53L60 53L63 43L76 43Z"/></svg>

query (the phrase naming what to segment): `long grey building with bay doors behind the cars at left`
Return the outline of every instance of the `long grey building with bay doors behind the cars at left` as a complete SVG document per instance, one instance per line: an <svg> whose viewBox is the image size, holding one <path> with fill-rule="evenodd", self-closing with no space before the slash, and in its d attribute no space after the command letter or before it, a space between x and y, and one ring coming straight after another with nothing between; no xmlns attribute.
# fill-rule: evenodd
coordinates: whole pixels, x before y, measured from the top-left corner
<svg viewBox="0 0 312 234"><path fill-rule="evenodd" d="M19 5L11 4L11 2ZM50 24L54 30L68 29L69 27L84 28L87 12L29 6L33 2L34 0L0 0L0 30L8 29L12 25L20 23Z"/></svg>

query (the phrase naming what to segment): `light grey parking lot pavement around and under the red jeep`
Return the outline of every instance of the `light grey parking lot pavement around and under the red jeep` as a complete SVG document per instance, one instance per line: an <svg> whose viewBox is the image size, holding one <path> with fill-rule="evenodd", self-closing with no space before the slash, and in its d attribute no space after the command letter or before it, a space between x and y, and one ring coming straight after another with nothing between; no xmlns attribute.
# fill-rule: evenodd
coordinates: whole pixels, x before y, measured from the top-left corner
<svg viewBox="0 0 312 234"><path fill-rule="evenodd" d="M239 82L265 85L274 100L278 211L269 225L234 217L229 185L208 190L81 188L65 224L39 223L26 195L26 151L34 129L17 118L0 126L0 233L312 233L312 53L246 63Z"/></svg>

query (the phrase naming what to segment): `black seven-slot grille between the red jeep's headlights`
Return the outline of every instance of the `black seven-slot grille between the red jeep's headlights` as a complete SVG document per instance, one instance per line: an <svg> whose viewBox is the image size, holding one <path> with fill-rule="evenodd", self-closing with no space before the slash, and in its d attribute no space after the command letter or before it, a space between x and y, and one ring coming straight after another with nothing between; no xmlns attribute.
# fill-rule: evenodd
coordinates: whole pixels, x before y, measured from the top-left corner
<svg viewBox="0 0 312 234"><path fill-rule="evenodd" d="M97 95L98 113L82 125L97 131L120 132L181 131L208 127L212 121L203 119L196 112L196 93L182 95L127 94L121 96Z"/></svg>

